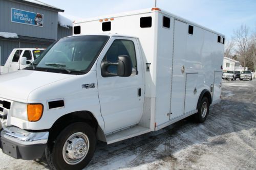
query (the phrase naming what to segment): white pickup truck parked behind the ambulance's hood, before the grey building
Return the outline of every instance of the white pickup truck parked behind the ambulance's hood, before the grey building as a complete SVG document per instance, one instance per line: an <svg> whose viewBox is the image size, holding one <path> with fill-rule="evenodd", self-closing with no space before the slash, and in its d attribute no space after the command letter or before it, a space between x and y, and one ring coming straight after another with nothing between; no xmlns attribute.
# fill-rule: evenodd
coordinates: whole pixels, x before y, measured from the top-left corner
<svg viewBox="0 0 256 170"><path fill-rule="evenodd" d="M40 56L45 48L14 48L4 66L0 66L0 75L23 69Z"/></svg>

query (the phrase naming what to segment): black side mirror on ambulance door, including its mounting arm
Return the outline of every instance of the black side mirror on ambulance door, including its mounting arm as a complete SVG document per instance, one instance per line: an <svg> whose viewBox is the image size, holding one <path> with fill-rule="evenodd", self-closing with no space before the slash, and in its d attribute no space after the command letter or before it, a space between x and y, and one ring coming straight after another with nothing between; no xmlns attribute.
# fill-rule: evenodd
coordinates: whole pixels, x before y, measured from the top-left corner
<svg viewBox="0 0 256 170"><path fill-rule="evenodd" d="M110 72L108 70L109 66L115 65L117 67L117 72ZM117 63L111 63L109 61L102 61L101 63L101 75L102 77L109 76L119 76L119 77L129 77L132 75L132 60L129 56L120 55L118 56Z"/></svg>

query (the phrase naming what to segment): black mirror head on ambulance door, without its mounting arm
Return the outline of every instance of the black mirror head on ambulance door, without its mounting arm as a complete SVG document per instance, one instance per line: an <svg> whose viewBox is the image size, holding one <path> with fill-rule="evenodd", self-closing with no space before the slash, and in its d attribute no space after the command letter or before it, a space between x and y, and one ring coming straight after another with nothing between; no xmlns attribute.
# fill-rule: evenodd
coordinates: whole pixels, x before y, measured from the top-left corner
<svg viewBox="0 0 256 170"><path fill-rule="evenodd" d="M117 76L129 77L132 75L132 60L129 56L118 56Z"/></svg>

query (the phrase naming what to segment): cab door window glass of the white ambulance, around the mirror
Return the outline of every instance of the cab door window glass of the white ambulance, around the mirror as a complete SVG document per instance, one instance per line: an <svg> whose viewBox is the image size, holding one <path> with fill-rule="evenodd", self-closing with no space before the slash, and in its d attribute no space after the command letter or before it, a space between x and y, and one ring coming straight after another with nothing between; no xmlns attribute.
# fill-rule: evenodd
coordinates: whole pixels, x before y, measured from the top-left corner
<svg viewBox="0 0 256 170"><path fill-rule="evenodd" d="M137 70L137 60L136 60L136 52L133 41L131 40L115 40L109 51L105 54L103 61L109 61L112 63L117 63L118 56L127 55L131 57L133 68ZM114 74L117 73L117 66L111 65L108 67L108 71Z"/></svg>

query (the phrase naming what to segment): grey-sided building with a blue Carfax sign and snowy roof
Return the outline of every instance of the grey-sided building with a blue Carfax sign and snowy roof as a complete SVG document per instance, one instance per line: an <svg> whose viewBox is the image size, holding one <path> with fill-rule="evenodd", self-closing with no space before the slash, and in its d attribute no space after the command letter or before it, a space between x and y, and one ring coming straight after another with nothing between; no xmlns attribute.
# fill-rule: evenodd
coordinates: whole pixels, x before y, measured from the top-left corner
<svg viewBox="0 0 256 170"><path fill-rule="evenodd" d="M37 0L0 0L0 64L5 64L13 48L46 48L72 35L72 21L67 24L69 19L59 12L64 10Z"/></svg>

